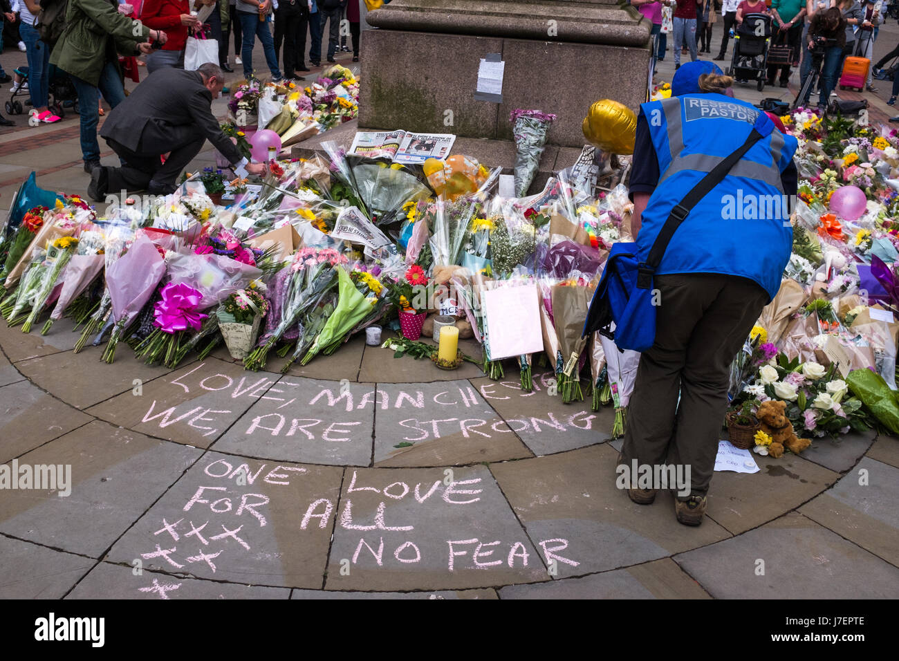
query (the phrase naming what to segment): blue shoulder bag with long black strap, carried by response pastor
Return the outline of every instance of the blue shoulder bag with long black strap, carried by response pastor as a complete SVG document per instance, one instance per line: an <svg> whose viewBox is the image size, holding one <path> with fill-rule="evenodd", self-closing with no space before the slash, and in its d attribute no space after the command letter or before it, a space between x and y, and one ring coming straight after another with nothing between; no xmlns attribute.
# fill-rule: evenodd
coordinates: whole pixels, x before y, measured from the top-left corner
<svg viewBox="0 0 899 661"><path fill-rule="evenodd" d="M599 331L615 341L619 349L645 352L655 343L655 304L653 276L662 262L674 231L687 219L690 210L720 183L734 164L750 147L773 128L767 115L756 121L743 146L727 156L706 174L690 192L674 205L659 231L645 262L637 259L636 243L617 243L612 246L602 272L600 284L593 294L590 309L583 325L583 335ZM766 126L767 124L767 126ZM761 132L760 132L761 131Z"/></svg>

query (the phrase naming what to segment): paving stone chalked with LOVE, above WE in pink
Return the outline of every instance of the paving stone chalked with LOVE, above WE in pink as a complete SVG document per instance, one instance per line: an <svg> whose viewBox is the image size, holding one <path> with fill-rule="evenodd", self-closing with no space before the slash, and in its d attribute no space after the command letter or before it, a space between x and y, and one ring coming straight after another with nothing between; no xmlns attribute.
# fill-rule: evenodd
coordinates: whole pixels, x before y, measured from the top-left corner
<svg viewBox="0 0 899 661"><path fill-rule="evenodd" d="M113 424L169 441L209 447L246 410L265 397L280 374L244 370L208 358L143 384L139 397L129 390L87 409Z"/></svg>

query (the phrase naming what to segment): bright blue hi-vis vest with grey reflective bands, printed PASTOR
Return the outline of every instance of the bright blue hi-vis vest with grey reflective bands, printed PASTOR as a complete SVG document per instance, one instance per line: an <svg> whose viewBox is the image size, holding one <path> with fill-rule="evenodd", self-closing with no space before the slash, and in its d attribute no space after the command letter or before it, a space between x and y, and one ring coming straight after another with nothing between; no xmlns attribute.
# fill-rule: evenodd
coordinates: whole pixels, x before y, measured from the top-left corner
<svg viewBox="0 0 899 661"><path fill-rule="evenodd" d="M645 260L674 205L743 145L761 111L724 94L684 94L643 103L640 112L659 160L636 240ZM690 211L655 272L739 275L773 299L793 245L780 173L796 149L797 139L777 129L754 144Z"/></svg>

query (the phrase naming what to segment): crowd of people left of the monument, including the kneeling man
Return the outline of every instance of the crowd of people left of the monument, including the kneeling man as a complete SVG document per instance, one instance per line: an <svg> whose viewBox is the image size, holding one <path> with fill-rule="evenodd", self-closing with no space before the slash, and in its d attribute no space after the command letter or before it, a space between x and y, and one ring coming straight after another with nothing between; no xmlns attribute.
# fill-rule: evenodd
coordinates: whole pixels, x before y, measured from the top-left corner
<svg viewBox="0 0 899 661"><path fill-rule="evenodd" d="M310 36L308 61L313 66L321 66L325 28L328 31L325 51L327 62L334 63L336 53L341 50L349 52L351 45L352 60L359 61L361 0L132 2L135 4L120 0L68 0L67 4L64 0L44 0L45 14L42 18L46 24L43 25L39 22L39 0L12 0L12 4L10 0L0 0L0 11L4 21L18 23L23 49L27 53L27 81L16 74L13 90L28 90L32 120L40 124L54 123L60 119L49 109L49 81L55 72L67 76L74 86L80 116L82 158L88 174L93 173L100 165L97 125L103 112L101 97L113 111L120 106L127 95L124 72L130 72L129 75L137 81L138 66L146 66L149 76L147 80L154 80L151 86L157 91L165 90L164 86L159 86L165 82L182 88L184 98L191 101L194 111L181 118L193 127L191 139L177 132L177 135L168 135L163 140L158 135L150 136L152 147L148 150L145 148L147 145L128 141L130 152L127 157L131 161L140 160L143 163L151 156L156 158L155 167L149 167L145 163L147 166L138 168L140 174L132 173L130 180L152 183L152 187L158 189L157 192L171 188L174 183L174 176L168 176L171 166L166 168L161 180L153 179L156 170L162 165L158 156L180 150L181 157L174 160L180 162L183 161L182 156L188 153L182 148L188 142L191 143L189 151L194 155L199 151L202 140L196 146L198 148L192 150L193 142L199 136L202 139L209 138L213 144L221 142L218 122L214 124L215 130L211 128L214 118L209 112L209 105L224 87L224 73L234 72L228 54L231 33L234 34L236 65L243 68L243 74L248 79L261 76L259 67L254 67L253 63L253 49L257 38L263 45L268 73L276 82L299 78L310 70L306 66L307 34ZM59 8L56 14L52 13L54 6ZM346 35L340 29L344 20L350 26L349 45L346 43ZM166 69L183 72L189 38L194 35L204 37L207 33L210 39L218 41L218 66L210 62L211 68L191 67L197 70L186 77L173 77L171 73L160 75ZM0 68L0 81L8 83L12 80L12 76L5 74ZM143 84L138 85L138 88L140 86ZM195 103L198 98L205 103L206 112L202 112L200 108L202 103ZM150 118L148 121L170 126L177 123L173 120L174 114L177 114L174 111L176 100L170 98L169 102L165 108L159 109L156 120ZM134 104L130 105L132 108L129 114L138 112ZM116 119L120 121L123 114L126 112L117 113ZM13 122L0 114L0 124L8 126ZM137 129L135 140L140 139L143 126ZM115 145L113 148L122 157L123 166L131 165L126 164L126 156L122 155L120 149ZM189 161L190 158L183 161L182 165ZM145 177L145 174L149 176ZM102 178L105 179L105 174Z"/></svg>

